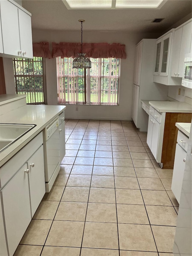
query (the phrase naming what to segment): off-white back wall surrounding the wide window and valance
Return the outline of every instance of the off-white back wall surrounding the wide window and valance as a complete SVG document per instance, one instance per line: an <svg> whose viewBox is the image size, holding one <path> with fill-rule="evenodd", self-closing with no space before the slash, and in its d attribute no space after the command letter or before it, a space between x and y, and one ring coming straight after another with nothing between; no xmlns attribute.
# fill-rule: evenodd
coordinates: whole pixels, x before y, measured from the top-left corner
<svg viewBox="0 0 192 256"><path fill-rule="evenodd" d="M80 42L80 36L80 29L79 31L32 30L33 42L48 41L49 44L52 42ZM66 118L131 120L135 45L143 38L157 38L158 36L159 34L128 32L83 32L83 42L86 43L107 42L126 45L127 59L121 60L119 106L78 105L79 110L75 111L76 105L68 104L65 111ZM47 103L58 104L55 59L46 59L46 84Z"/></svg>

